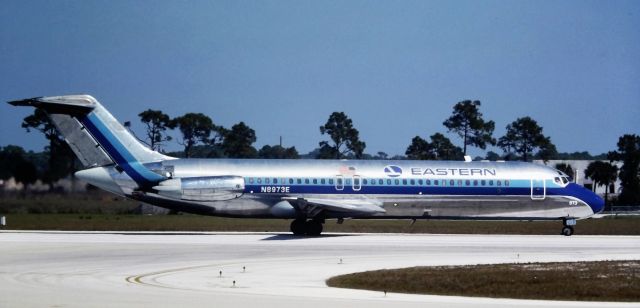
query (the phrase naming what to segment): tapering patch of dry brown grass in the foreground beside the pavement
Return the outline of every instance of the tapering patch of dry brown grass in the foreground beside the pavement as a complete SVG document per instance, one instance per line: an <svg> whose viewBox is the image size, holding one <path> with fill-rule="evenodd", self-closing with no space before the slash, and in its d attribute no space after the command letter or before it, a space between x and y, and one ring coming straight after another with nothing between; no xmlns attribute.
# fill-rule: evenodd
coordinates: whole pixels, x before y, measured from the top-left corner
<svg viewBox="0 0 640 308"><path fill-rule="evenodd" d="M640 261L414 267L337 276L327 285L455 296L640 301Z"/></svg>

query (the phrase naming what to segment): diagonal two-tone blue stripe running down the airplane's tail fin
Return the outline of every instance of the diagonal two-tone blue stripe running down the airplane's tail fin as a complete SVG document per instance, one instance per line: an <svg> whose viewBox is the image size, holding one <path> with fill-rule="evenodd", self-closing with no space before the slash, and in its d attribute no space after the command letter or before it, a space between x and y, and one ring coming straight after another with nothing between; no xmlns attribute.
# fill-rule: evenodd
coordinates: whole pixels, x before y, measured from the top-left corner
<svg viewBox="0 0 640 308"><path fill-rule="evenodd" d="M98 143L107 151L109 156L115 160L116 164L122 167L124 172L138 183L138 185L148 187L165 179L161 175L145 168L137 161L95 113L92 112L80 118L80 122L89 130L91 135L97 139Z"/></svg>

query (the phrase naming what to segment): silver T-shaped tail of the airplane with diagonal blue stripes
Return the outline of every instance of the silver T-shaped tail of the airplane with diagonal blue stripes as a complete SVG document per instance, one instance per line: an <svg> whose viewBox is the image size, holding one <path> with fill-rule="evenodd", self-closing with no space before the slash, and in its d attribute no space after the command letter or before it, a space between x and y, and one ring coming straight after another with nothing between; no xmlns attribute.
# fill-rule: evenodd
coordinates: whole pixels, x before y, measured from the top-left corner
<svg viewBox="0 0 640 308"><path fill-rule="evenodd" d="M143 164L172 158L138 141L90 95L35 97L9 104L45 111L85 168L115 166L140 188L166 179Z"/></svg>

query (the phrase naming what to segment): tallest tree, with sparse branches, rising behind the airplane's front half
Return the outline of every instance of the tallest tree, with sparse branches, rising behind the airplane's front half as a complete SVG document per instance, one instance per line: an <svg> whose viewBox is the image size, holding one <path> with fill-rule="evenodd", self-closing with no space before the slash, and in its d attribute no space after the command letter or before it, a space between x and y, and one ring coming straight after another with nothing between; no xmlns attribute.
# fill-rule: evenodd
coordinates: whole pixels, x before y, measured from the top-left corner
<svg viewBox="0 0 640 308"><path fill-rule="evenodd" d="M458 102L453 106L451 116L442 123L449 132L454 132L462 138L463 156L467 155L467 145L484 150L487 143L496 144L496 140L492 137L496 125L493 121L484 121L482 113L478 110L480 105L478 100Z"/></svg>

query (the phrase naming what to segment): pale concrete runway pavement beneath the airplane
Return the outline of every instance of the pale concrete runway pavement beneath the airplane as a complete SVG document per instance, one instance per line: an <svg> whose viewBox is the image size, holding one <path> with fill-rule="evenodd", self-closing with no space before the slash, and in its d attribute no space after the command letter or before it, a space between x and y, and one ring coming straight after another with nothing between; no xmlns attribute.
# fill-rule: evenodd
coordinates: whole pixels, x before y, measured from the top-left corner
<svg viewBox="0 0 640 308"><path fill-rule="evenodd" d="M640 237L2 231L0 307L638 307L325 285L381 268L631 259Z"/></svg>

